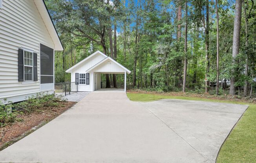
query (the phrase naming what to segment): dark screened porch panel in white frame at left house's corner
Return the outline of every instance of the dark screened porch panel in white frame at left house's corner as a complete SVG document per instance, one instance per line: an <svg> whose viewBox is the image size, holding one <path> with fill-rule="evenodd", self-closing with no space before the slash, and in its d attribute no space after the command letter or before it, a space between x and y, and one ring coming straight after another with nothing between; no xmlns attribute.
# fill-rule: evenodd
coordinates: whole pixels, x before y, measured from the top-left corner
<svg viewBox="0 0 256 163"><path fill-rule="evenodd" d="M40 44L40 83L53 83L53 49Z"/></svg>

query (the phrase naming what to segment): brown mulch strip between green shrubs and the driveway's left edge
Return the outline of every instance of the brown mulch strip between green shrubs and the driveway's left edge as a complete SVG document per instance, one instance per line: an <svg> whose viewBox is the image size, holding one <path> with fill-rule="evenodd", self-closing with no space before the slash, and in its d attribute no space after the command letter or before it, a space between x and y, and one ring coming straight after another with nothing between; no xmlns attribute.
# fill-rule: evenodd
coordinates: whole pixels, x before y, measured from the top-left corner
<svg viewBox="0 0 256 163"><path fill-rule="evenodd" d="M64 111L75 105L75 103L76 102L65 101L60 103L60 107L48 107L38 112L18 115L18 121L6 125L0 129L0 149L2 149L2 146L8 141L18 138L41 123L46 123L53 120Z"/></svg>

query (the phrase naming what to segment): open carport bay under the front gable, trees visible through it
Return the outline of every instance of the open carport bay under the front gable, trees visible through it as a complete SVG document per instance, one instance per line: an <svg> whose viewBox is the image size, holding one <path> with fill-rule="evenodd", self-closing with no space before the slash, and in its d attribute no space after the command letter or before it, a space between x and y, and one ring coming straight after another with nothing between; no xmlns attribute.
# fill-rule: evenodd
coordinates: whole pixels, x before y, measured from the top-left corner
<svg viewBox="0 0 256 163"><path fill-rule="evenodd" d="M110 88L112 89L124 89L124 74L115 74L117 79L117 87L114 87L113 74L108 74L110 79ZM107 89L110 89L107 88ZM101 74L101 89L106 89L106 74Z"/></svg>

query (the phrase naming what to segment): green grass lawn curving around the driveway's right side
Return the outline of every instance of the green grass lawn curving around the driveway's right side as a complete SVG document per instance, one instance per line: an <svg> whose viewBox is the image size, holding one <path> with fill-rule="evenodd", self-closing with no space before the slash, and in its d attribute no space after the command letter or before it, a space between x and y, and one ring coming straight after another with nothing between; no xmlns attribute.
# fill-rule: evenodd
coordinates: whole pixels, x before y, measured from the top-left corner
<svg viewBox="0 0 256 163"><path fill-rule="evenodd" d="M235 103L249 105L242 118L231 131L219 152L217 163L256 163L256 104L238 101L213 100L199 97L169 96L161 94L127 93L132 101L179 99Z"/></svg>

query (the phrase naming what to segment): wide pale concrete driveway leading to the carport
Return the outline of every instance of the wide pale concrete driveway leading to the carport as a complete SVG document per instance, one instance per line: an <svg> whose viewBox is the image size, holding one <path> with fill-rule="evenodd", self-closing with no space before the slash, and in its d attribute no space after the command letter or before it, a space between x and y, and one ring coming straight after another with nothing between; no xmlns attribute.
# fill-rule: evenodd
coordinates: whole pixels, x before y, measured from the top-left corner
<svg viewBox="0 0 256 163"><path fill-rule="evenodd" d="M245 105L95 91L0 152L15 163L213 163Z"/></svg>

